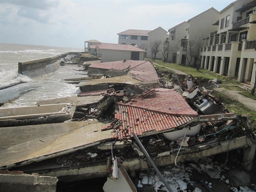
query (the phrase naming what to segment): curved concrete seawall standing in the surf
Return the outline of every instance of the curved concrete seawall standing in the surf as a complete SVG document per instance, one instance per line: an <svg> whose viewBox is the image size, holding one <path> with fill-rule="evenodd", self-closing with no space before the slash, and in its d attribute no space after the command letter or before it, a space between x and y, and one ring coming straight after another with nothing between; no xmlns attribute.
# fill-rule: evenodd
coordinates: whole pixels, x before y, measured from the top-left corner
<svg viewBox="0 0 256 192"><path fill-rule="evenodd" d="M18 73L30 78L50 74L60 68L62 63L65 63L70 58L74 58L78 55L78 52L68 52L54 57L18 62Z"/></svg>

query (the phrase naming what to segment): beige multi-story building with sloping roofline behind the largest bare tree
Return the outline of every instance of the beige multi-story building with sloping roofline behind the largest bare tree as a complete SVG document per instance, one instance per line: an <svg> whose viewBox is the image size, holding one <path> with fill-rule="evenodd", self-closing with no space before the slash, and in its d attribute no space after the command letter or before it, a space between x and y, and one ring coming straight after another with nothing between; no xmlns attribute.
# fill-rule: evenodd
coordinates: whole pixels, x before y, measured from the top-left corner
<svg viewBox="0 0 256 192"><path fill-rule="evenodd" d="M218 11L210 8L201 14L182 22L168 30L169 54L168 61L188 65L191 61L189 54L190 41L209 36L211 30L216 30L212 24L218 20Z"/></svg>

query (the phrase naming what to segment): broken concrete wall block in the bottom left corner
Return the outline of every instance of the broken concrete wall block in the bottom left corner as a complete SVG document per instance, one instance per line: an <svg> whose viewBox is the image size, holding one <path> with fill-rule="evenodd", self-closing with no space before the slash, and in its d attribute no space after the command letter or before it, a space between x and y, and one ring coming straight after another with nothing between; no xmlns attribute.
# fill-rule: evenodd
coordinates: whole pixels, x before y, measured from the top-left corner
<svg viewBox="0 0 256 192"><path fill-rule="evenodd" d="M28 174L0 174L0 191L11 192L56 192L56 177Z"/></svg>

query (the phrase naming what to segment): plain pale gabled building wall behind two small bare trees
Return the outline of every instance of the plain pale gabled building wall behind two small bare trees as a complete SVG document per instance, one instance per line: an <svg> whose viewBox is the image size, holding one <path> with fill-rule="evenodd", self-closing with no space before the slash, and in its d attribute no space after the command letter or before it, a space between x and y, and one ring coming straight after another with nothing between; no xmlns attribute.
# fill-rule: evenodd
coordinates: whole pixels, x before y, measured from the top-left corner
<svg viewBox="0 0 256 192"><path fill-rule="evenodd" d="M166 39L168 40L169 36L167 34L167 31L164 30L162 27L158 27L152 31L150 31L148 33L148 50L147 50L147 54L146 57L151 58L152 56L152 51L150 49L150 43L154 42L154 41L161 41L161 46L160 49L162 50L162 46L163 46L163 42L166 41ZM162 58L162 52L159 50L159 52L156 54L156 58Z"/></svg>

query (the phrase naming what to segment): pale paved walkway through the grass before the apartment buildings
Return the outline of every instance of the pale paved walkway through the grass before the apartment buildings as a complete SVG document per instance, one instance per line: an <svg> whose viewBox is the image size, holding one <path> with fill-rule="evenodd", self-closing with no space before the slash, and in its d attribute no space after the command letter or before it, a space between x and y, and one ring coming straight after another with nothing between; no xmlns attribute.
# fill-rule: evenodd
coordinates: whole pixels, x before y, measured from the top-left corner
<svg viewBox="0 0 256 192"><path fill-rule="evenodd" d="M155 62L153 62L154 65L158 65L158 66L162 66L159 65ZM176 72L177 74L182 74L182 75L187 75L186 73L180 71L180 70L176 70L170 67L165 67L169 70L172 70L174 72ZM216 92L223 92L225 90L225 88L215 88L214 91ZM225 93L230 95L231 98L234 98L235 100L238 100L239 102L241 102L242 104L244 104L244 106L248 107L250 110L256 111L256 100L253 100L251 98L248 98L246 96L243 96L241 94L239 94L240 91L234 91L234 90L226 90Z"/></svg>

